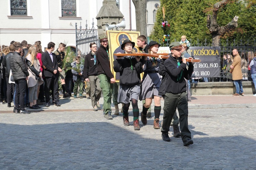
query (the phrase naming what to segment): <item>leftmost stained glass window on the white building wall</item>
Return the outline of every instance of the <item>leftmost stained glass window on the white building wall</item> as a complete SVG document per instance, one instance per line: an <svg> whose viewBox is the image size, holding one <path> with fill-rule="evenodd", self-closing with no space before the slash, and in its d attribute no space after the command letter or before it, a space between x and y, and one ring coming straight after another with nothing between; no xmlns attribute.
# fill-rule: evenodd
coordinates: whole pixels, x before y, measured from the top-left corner
<svg viewBox="0 0 256 170"><path fill-rule="evenodd" d="M11 0L11 15L27 15L27 0Z"/></svg>

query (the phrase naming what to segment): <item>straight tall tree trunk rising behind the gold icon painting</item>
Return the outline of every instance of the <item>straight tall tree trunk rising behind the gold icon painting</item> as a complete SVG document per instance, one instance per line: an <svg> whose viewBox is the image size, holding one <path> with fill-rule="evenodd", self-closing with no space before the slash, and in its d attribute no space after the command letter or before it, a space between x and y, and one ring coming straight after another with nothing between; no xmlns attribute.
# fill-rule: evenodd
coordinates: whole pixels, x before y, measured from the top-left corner
<svg viewBox="0 0 256 170"><path fill-rule="evenodd" d="M136 14L136 30L140 31L140 35L147 37L146 8L147 0L132 0L135 6Z"/></svg>

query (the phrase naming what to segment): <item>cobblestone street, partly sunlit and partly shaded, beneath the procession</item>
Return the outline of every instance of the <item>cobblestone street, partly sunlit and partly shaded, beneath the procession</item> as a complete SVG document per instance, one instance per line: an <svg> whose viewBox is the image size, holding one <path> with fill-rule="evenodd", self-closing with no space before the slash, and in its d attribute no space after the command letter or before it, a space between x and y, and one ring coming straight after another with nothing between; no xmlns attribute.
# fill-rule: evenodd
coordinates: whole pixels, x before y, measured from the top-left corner
<svg viewBox="0 0 256 170"><path fill-rule="evenodd" d="M188 147L172 128L171 141L162 140L153 128L154 109L147 125L140 121L141 130L134 131L131 106L130 126L124 126L121 114L107 120L86 98L60 103L29 115L0 106L0 169L256 169L253 103L197 109L203 103L189 102L194 144Z"/></svg>

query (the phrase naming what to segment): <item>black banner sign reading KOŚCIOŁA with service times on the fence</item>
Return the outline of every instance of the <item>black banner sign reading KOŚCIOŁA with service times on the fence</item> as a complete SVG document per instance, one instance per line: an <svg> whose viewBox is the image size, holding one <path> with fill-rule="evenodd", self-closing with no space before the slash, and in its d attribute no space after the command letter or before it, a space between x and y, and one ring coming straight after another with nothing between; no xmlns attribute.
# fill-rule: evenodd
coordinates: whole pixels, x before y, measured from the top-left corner
<svg viewBox="0 0 256 170"><path fill-rule="evenodd" d="M194 63L194 72L191 78L219 77L219 47L190 47L195 59L201 62Z"/></svg>

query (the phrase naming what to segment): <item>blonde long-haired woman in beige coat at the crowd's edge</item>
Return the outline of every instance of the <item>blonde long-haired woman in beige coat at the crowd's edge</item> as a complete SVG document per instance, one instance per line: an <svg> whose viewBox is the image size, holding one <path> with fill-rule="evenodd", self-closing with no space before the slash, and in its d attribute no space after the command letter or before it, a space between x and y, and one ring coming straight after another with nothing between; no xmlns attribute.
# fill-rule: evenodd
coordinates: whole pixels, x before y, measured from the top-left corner
<svg viewBox="0 0 256 170"><path fill-rule="evenodd" d="M29 88L29 108L31 109L38 109L41 108L37 105L37 89L42 81L42 72L40 71L40 63L37 59L37 47L35 45L31 46L28 50L28 54L25 58L25 62L28 66L28 88Z"/></svg>

